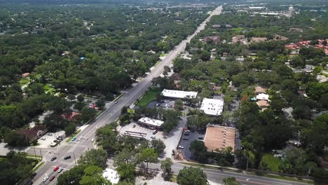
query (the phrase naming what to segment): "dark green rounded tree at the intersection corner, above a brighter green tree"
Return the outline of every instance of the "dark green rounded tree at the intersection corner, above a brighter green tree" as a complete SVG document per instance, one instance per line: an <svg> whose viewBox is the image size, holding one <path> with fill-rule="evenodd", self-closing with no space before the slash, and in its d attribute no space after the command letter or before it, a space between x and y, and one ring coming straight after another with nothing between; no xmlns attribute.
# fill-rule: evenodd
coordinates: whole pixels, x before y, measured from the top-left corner
<svg viewBox="0 0 328 185"><path fill-rule="evenodd" d="M80 164L95 165L98 167L107 166L107 152L102 149L91 149L82 154L81 158L78 160Z"/></svg>

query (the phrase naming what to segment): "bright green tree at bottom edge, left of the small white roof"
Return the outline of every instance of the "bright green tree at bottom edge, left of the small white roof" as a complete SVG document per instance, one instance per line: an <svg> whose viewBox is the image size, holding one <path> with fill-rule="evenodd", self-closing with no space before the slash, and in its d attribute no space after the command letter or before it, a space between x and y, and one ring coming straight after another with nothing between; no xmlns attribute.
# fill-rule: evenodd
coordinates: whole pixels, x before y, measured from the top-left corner
<svg viewBox="0 0 328 185"><path fill-rule="evenodd" d="M111 182L102 177L102 168L90 165L84 170L84 175L80 181L81 185L111 185Z"/></svg>

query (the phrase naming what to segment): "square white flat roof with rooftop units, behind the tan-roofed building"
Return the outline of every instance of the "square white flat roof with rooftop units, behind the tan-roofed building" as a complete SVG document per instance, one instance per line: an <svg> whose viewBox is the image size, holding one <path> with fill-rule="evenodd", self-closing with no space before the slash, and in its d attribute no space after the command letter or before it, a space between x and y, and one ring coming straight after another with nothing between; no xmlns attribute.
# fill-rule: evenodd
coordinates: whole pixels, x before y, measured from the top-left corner
<svg viewBox="0 0 328 185"><path fill-rule="evenodd" d="M200 110L204 111L205 114L219 116L222 114L223 106L224 100L204 98Z"/></svg>

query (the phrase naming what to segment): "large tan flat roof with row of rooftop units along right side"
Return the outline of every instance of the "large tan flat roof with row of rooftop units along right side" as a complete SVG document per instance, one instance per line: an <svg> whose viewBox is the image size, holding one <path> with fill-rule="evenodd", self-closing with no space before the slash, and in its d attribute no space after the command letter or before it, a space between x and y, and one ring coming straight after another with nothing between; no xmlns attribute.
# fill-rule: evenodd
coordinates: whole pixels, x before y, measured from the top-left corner
<svg viewBox="0 0 328 185"><path fill-rule="evenodd" d="M215 151L228 146L235 150L235 128L207 125L204 143L207 151Z"/></svg>

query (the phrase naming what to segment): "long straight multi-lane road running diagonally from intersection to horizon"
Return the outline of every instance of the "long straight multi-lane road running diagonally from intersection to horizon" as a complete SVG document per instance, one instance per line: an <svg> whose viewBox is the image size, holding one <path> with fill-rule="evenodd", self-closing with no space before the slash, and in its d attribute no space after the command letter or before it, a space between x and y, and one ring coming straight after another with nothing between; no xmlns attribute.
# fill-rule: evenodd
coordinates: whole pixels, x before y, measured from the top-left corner
<svg viewBox="0 0 328 185"><path fill-rule="evenodd" d="M205 28L206 23L210 20L212 15L217 15L221 13L221 6L216 8L204 22L200 24L200 26L196 29L191 36L188 36L187 39L182 41L175 50L172 50L168 55L151 70L151 73L142 79L139 83L133 86L130 90L128 90L118 102L115 104L111 102L108 106L106 111L104 111L95 121L93 124L89 125L85 128L82 132L80 132L76 138L78 137L85 137L88 138L87 140L81 140L76 142L69 142L68 144L62 142L61 146L58 146L57 149L41 149L43 151L43 160L45 160L45 164L37 171L36 177L34 177L34 184L55 184L55 181L46 181L45 183L42 182L42 179L46 176L58 176L57 172L53 172L53 168L55 166L64 167L64 169L70 169L74 166L74 156L76 160L81 156L88 149L93 149L94 145L93 142L90 142L91 138L95 137L95 130L100 128L106 124L112 123L116 121L116 119L121 114L121 109L123 106L130 106L133 104L142 94L151 86L151 80L160 74L163 73L164 66L170 66L172 64L172 60L177 57L177 55L184 51L186 47L186 43L189 43L191 38L198 34L201 30ZM46 154L44 154L44 152ZM34 149L31 148L27 151L27 153L34 154ZM55 154L54 154L55 153ZM38 153L36 153L39 155ZM64 160L64 156L71 155L71 159ZM50 159L54 156L57 157L57 160L50 162Z"/></svg>

